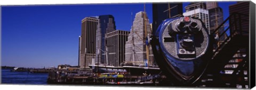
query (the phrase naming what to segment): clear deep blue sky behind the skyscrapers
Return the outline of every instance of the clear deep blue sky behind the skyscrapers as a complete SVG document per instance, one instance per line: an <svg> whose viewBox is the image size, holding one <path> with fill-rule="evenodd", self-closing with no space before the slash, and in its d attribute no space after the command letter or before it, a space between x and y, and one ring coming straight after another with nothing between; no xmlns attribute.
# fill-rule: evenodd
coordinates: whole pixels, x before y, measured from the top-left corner
<svg viewBox="0 0 256 90"><path fill-rule="evenodd" d="M228 5L219 3L228 16ZM187 5L184 3L183 6ZM78 36L81 20L87 16L111 14L116 29L130 31L131 12L143 11L143 4L2 6L2 66L57 67L78 64ZM149 22L152 6L146 4Z"/></svg>

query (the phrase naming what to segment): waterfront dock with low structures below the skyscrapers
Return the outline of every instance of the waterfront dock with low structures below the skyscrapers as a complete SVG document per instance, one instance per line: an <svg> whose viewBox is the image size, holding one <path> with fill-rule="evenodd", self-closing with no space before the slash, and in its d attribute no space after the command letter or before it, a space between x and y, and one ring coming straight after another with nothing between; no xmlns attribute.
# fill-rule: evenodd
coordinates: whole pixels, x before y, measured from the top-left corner
<svg viewBox="0 0 256 90"><path fill-rule="evenodd" d="M81 74L81 72L84 74ZM157 85L159 84L159 81L165 78L165 76L160 75L100 74L92 73L90 71L79 71L74 74L69 72L51 71L47 78L47 83L79 85Z"/></svg>

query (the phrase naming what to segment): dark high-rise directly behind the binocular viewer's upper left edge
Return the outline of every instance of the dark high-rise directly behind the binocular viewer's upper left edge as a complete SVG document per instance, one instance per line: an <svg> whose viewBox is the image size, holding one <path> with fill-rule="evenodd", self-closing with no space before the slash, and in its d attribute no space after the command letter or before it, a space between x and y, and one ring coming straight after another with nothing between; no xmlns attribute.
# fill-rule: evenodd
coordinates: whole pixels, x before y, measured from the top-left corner
<svg viewBox="0 0 256 90"><path fill-rule="evenodd" d="M153 4L153 33L158 26L171 17L182 16L182 3L154 3Z"/></svg>

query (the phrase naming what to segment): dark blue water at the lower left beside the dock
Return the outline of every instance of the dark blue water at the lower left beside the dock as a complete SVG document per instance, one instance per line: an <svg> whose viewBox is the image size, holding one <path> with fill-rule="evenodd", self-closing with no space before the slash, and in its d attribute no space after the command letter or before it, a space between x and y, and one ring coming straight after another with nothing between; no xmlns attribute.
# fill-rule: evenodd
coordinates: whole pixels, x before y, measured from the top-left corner
<svg viewBox="0 0 256 90"><path fill-rule="evenodd" d="M48 74L2 69L2 84L46 85Z"/></svg>

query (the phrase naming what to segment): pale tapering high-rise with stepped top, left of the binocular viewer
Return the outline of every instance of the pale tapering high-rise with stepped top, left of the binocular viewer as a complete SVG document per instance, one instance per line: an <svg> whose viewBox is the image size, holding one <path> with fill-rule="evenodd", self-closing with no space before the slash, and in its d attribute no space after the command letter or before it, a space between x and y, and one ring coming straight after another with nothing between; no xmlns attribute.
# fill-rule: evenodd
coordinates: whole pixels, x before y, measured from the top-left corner
<svg viewBox="0 0 256 90"><path fill-rule="evenodd" d="M154 59L151 58L153 56L149 57L153 55L151 46L146 46L146 33L151 34L147 14L138 12L135 15L128 41L125 43L125 65L145 66L145 62L148 62L149 66L153 65Z"/></svg>

